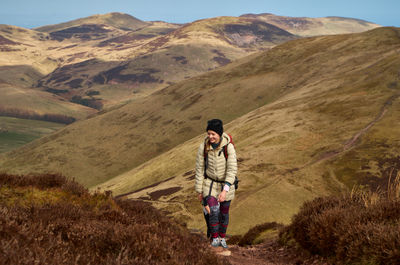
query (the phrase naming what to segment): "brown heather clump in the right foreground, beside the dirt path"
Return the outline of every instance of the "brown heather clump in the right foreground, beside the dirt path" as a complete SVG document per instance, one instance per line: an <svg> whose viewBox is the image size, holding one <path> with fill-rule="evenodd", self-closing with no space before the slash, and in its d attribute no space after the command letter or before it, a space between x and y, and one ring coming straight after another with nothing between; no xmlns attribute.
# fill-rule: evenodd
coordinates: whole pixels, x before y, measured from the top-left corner
<svg viewBox="0 0 400 265"><path fill-rule="evenodd" d="M399 264L400 200L372 192L316 198L281 231L282 242L291 238L337 264Z"/></svg>

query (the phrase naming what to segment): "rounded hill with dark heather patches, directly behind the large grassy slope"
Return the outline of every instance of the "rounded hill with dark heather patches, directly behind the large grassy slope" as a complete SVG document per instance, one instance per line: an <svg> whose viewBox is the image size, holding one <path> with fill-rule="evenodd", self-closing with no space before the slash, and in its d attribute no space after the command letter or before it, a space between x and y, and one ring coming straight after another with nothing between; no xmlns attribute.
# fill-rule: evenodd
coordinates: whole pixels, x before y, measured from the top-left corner
<svg viewBox="0 0 400 265"><path fill-rule="evenodd" d="M168 27L169 32L151 33L154 25L164 24L158 22L153 28L93 44L98 50L96 57L58 67L42 78L38 87L68 99L88 98L88 93L95 91L97 96L92 99L112 105L295 38L265 22L235 17L206 19L174 30ZM112 53L113 58L100 51Z"/></svg>

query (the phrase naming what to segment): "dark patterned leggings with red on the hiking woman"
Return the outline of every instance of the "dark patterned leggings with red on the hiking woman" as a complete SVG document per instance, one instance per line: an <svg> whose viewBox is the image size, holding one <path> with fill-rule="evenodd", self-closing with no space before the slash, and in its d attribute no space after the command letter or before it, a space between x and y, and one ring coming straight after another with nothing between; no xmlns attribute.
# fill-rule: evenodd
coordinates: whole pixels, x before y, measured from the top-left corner
<svg viewBox="0 0 400 265"><path fill-rule="evenodd" d="M210 206L209 229L211 237L220 236L224 238L229 224L229 206L231 201L224 201L218 205L218 200L209 196L207 204Z"/></svg>

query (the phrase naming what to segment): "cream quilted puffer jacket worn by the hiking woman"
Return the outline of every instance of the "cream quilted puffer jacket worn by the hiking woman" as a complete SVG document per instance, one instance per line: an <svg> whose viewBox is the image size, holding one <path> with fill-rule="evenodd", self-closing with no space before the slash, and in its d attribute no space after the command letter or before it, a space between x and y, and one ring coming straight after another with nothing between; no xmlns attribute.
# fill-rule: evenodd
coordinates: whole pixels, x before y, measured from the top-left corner
<svg viewBox="0 0 400 265"><path fill-rule="evenodd" d="M226 194L226 201L230 201L235 197L235 176L237 174L237 160L236 151L232 143L229 143L229 136L223 133L221 136L221 144L213 149L209 144L208 137L205 138L197 151L196 159L196 180L195 180L195 190L197 193L202 193L203 197L213 196L218 198L221 193L224 183L218 183L214 180L225 181L231 184L229 191ZM223 147L228 144L228 159L225 160ZM208 166L207 166L207 176L204 177L204 145L206 145L206 150L208 151ZM212 183L212 187L211 187ZM211 194L210 194L211 187Z"/></svg>

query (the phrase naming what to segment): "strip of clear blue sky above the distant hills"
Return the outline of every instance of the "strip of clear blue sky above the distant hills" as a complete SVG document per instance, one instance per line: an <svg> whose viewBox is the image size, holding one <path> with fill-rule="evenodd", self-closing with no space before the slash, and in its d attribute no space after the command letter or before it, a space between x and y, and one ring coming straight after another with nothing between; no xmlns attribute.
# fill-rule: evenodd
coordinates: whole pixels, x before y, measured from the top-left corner
<svg viewBox="0 0 400 265"><path fill-rule="evenodd" d="M246 13L341 16L400 27L400 0L1 0L0 24L33 28L109 12L174 23Z"/></svg>

